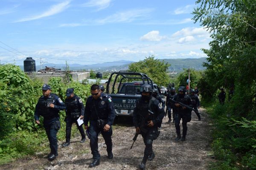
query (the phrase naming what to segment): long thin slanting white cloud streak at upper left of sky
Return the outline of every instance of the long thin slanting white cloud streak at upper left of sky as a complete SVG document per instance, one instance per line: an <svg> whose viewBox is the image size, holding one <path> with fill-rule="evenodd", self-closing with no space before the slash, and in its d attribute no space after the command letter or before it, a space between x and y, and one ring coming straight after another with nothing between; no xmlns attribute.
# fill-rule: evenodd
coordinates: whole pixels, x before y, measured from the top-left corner
<svg viewBox="0 0 256 170"><path fill-rule="evenodd" d="M58 13L64 11L66 8L68 8L69 3L70 3L70 1L65 1L63 3L53 5L47 11L43 12L42 14L35 15L35 16L32 16L32 17L23 18L23 19L15 21L15 23L24 22L24 21L31 21L31 20L38 20L38 19L43 18L43 17L49 17L51 15L58 14Z"/></svg>

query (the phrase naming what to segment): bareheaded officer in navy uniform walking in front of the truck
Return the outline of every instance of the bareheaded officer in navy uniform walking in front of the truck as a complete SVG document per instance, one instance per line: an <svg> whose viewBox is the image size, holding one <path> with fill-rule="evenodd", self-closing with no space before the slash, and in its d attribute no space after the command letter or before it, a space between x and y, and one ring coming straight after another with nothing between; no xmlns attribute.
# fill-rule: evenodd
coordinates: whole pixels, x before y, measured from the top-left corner
<svg viewBox="0 0 256 170"><path fill-rule="evenodd" d="M90 148L93 154L93 162L89 167L99 165L100 154L98 151L98 135L101 132L107 145L108 159L113 159L112 153L112 128L115 119L115 109L111 98L102 93L99 85L92 85L91 96L88 97L84 112L84 127L89 128ZM90 120L90 127L88 121Z"/></svg>

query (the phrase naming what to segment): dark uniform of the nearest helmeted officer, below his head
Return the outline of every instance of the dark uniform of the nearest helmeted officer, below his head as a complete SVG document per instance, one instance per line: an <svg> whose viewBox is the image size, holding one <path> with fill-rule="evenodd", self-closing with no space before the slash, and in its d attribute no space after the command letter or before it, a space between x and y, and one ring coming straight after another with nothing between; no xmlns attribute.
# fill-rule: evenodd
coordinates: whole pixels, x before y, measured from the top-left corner
<svg viewBox="0 0 256 170"><path fill-rule="evenodd" d="M152 111L154 114L149 116L148 110ZM144 157L142 161L144 166L149 157L151 158L149 160L154 158L152 144L160 133L157 130L157 127L160 127L163 117L163 107L161 106L161 103L153 96L151 96L151 99L149 100L143 100L142 98L137 99L136 107L134 108L133 112L133 122L136 128L140 127L140 133L145 144ZM150 120L152 120L154 123L153 127L147 126L148 121Z"/></svg>

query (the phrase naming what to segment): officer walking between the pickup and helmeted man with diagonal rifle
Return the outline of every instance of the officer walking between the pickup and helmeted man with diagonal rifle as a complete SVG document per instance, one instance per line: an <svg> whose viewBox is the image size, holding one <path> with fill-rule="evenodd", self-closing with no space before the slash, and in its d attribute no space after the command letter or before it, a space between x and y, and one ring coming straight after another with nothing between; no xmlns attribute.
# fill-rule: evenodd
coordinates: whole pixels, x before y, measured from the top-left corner
<svg viewBox="0 0 256 170"><path fill-rule="evenodd" d="M176 93L175 88L172 87L166 97L166 106L168 109L168 118L169 118L168 123L170 123L172 121L172 119L173 119L173 122L175 122L175 113L176 113L175 102L173 102L171 99L174 99L174 96L176 94L177 93ZM172 114L171 114L171 111L172 111Z"/></svg>

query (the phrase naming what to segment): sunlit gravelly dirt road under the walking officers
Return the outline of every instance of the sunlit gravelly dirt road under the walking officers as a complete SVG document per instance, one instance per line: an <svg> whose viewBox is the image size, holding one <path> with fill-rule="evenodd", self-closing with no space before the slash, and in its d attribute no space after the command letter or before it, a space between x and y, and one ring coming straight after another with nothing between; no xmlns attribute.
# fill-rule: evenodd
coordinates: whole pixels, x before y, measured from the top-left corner
<svg viewBox="0 0 256 170"><path fill-rule="evenodd" d="M201 112L204 110L200 109ZM163 119L160 136L153 143L156 157L146 164L147 170L207 170L211 161L209 119L202 116L198 121L192 112L192 121L188 123L185 142L175 142L176 131L174 123ZM181 124L180 124L181 126ZM181 126L182 129L182 126ZM130 149L135 128L132 125L115 125L113 129L113 160L107 159L106 147L102 136L99 136L100 165L89 168L92 161L89 140L84 144L79 142L80 136L72 139L69 147L61 147L59 156L54 161L47 160L47 154L37 153L28 159L18 159L9 164L1 165L3 170L137 170L142 161L145 145L141 136L137 138L134 147ZM59 141L59 146L64 141Z"/></svg>

